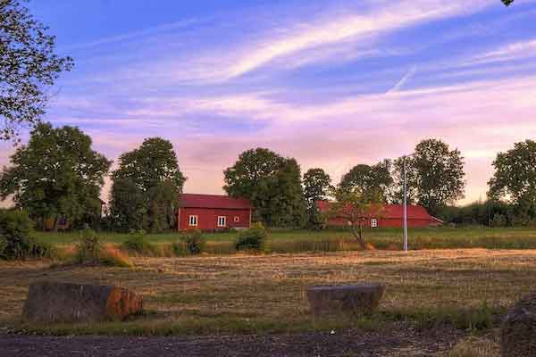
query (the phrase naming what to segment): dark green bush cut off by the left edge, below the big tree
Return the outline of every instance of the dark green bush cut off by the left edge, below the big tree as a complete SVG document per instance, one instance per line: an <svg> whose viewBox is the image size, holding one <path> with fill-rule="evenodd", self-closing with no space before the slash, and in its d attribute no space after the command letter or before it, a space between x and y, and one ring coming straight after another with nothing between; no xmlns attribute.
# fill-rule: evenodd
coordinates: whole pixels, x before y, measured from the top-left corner
<svg viewBox="0 0 536 357"><path fill-rule="evenodd" d="M51 245L31 237L33 222L28 213L19 210L0 210L0 257L24 260L50 256Z"/></svg>

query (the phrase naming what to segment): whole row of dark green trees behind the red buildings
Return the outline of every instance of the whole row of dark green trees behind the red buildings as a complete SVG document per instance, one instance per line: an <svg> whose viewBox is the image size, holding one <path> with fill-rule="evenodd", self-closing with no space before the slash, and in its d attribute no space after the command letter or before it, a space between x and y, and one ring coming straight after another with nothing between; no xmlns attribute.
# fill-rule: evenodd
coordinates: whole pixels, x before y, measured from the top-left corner
<svg viewBox="0 0 536 357"><path fill-rule="evenodd" d="M29 213L38 228L51 220L58 228L105 227L117 231L162 232L176 227L179 194L186 176L172 143L147 138L112 161L92 149L91 138L78 128L39 124L29 143L17 147L11 165L0 174L0 197L13 199ZM401 203L406 173L409 203L423 205L431 214L456 224L492 227L526 226L536 221L536 142L526 140L498 153L489 181L487 200L464 207L454 203L465 195L465 159L439 139L423 140L413 154L373 165L358 163L333 184L321 168L301 168L294 158L266 148L239 154L223 170L223 189L248 198L255 220L268 227L321 228L325 217L314 202L348 190L381 203ZM104 179L112 189L104 210L99 199ZM104 213L104 215L103 215ZM104 217L104 218L103 218Z"/></svg>

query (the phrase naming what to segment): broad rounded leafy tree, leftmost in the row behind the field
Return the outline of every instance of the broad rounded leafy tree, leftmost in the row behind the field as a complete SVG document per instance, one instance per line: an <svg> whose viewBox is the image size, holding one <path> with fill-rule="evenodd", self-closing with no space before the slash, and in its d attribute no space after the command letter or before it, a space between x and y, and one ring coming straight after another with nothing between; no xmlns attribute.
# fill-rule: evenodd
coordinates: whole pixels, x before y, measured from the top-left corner
<svg viewBox="0 0 536 357"><path fill-rule="evenodd" d="M11 156L11 167L4 167L0 197L13 195L34 220L66 215L88 223L100 217L100 189L111 164L80 129L38 124L28 145Z"/></svg>

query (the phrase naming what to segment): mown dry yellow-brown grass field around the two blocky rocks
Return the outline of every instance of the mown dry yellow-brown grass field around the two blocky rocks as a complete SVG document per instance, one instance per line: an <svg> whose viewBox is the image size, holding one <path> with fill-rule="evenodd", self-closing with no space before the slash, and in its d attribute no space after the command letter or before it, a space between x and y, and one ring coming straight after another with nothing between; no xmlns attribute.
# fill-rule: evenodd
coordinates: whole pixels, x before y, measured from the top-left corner
<svg viewBox="0 0 536 357"><path fill-rule="evenodd" d="M219 334L378 327L417 320L471 328L486 320L482 304L502 311L527 293L536 251L438 250L132 258L134 268L48 268L44 262L0 262L0 320L12 325L30 282L40 279L114 284L144 296L147 314L94 325L25 327L46 333ZM388 288L373 320L313 320L306 286L382 281ZM487 310L487 311L488 311ZM457 325L456 325L457 326ZM487 325L482 325L487 328Z"/></svg>

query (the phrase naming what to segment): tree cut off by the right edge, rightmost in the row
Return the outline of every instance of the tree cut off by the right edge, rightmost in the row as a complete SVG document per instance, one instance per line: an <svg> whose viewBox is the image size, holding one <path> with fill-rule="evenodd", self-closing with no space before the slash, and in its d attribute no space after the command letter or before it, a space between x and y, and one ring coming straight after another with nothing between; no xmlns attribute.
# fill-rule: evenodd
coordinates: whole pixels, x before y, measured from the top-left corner
<svg viewBox="0 0 536 357"><path fill-rule="evenodd" d="M513 149L498 153L493 167L490 199L506 199L518 214L536 216L536 141L515 143Z"/></svg>

